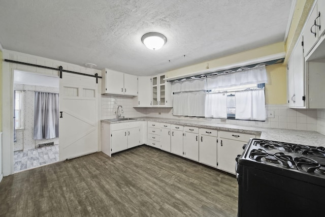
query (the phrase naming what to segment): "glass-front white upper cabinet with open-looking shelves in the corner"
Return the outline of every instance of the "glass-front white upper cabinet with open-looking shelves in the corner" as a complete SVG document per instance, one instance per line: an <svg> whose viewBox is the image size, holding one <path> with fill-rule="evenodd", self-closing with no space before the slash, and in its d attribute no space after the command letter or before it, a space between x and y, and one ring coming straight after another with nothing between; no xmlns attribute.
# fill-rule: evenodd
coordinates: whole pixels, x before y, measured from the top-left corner
<svg viewBox="0 0 325 217"><path fill-rule="evenodd" d="M151 78L151 105L154 107L173 107L172 84L164 79L165 75Z"/></svg>

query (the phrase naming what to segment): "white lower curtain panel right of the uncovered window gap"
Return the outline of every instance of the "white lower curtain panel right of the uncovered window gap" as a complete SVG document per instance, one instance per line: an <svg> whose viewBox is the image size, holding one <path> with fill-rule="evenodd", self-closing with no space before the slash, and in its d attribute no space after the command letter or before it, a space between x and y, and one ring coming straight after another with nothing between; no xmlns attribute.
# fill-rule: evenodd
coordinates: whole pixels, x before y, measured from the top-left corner
<svg viewBox="0 0 325 217"><path fill-rule="evenodd" d="M236 119L266 120L264 89L236 92Z"/></svg>

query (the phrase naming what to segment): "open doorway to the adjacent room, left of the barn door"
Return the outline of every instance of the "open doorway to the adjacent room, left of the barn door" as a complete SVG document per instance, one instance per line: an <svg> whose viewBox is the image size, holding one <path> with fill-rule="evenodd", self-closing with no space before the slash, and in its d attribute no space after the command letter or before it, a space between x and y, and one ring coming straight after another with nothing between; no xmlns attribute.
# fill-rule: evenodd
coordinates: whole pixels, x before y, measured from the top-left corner
<svg viewBox="0 0 325 217"><path fill-rule="evenodd" d="M55 113L58 117L58 92L57 77L14 71L14 172L59 161L58 133L46 137L34 133L36 122L39 122L35 119L35 114L38 114L35 109L40 110L35 105L39 95L57 95ZM49 109L54 112L52 105Z"/></svg>

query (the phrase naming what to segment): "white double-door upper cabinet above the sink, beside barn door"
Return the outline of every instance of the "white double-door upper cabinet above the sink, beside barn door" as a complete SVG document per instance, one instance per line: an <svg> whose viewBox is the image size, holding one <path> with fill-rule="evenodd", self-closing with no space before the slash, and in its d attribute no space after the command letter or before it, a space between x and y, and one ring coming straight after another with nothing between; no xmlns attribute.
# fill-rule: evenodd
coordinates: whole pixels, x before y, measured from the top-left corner
<svg viewBox="0 0 325 217"><path fill-rule="evenodd" d="M138 77L110 69L103 69L102 94L137 96Z"/></svg>

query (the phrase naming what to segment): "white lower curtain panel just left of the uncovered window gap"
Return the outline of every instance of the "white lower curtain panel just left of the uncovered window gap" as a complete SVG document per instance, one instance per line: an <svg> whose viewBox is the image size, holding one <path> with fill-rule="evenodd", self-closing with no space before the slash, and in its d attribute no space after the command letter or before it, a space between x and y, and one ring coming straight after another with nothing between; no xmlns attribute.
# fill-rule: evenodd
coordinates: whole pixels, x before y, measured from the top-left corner
<svg viewBox="0 0 325 217"><path fill-rule="evenodd" d="M227 94L207 94L205 117L227 118Z"/></svg>

